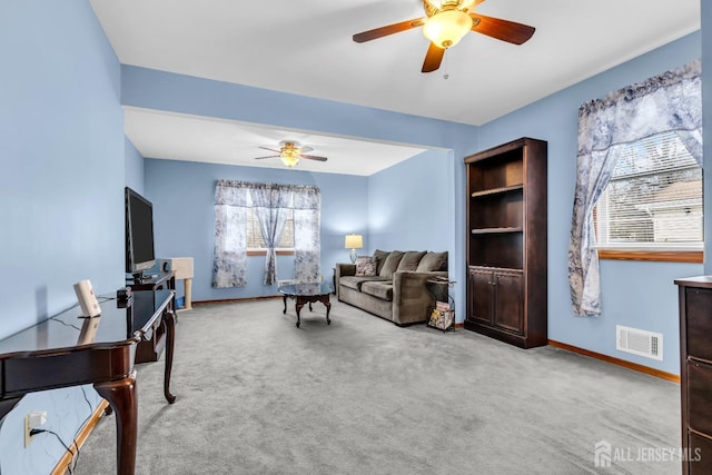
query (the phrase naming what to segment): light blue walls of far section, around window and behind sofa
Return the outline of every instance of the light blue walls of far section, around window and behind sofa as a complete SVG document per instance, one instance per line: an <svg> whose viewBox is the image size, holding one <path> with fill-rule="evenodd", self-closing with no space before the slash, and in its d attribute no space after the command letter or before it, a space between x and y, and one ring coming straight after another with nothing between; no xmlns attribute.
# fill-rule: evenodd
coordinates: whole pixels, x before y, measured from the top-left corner
<svg viewBox="0 0 712 475"><path fill-rule="evenodd" d="M194 258L194 301L277 294L275 286L263 284L261 256L248 257L247 286L211 287L217 179L319 187L325 279L332 279L335 263L348 261L344 236L350 232L364 235L362 254L375 249L372 241L383 249L446 250L451 207L447 192L441 190L449 184L451 156L426 151L372 177L147 158L144 196L154 204L156 255ZM291 257L278 256L277 275L294 276Z"/></svg>

